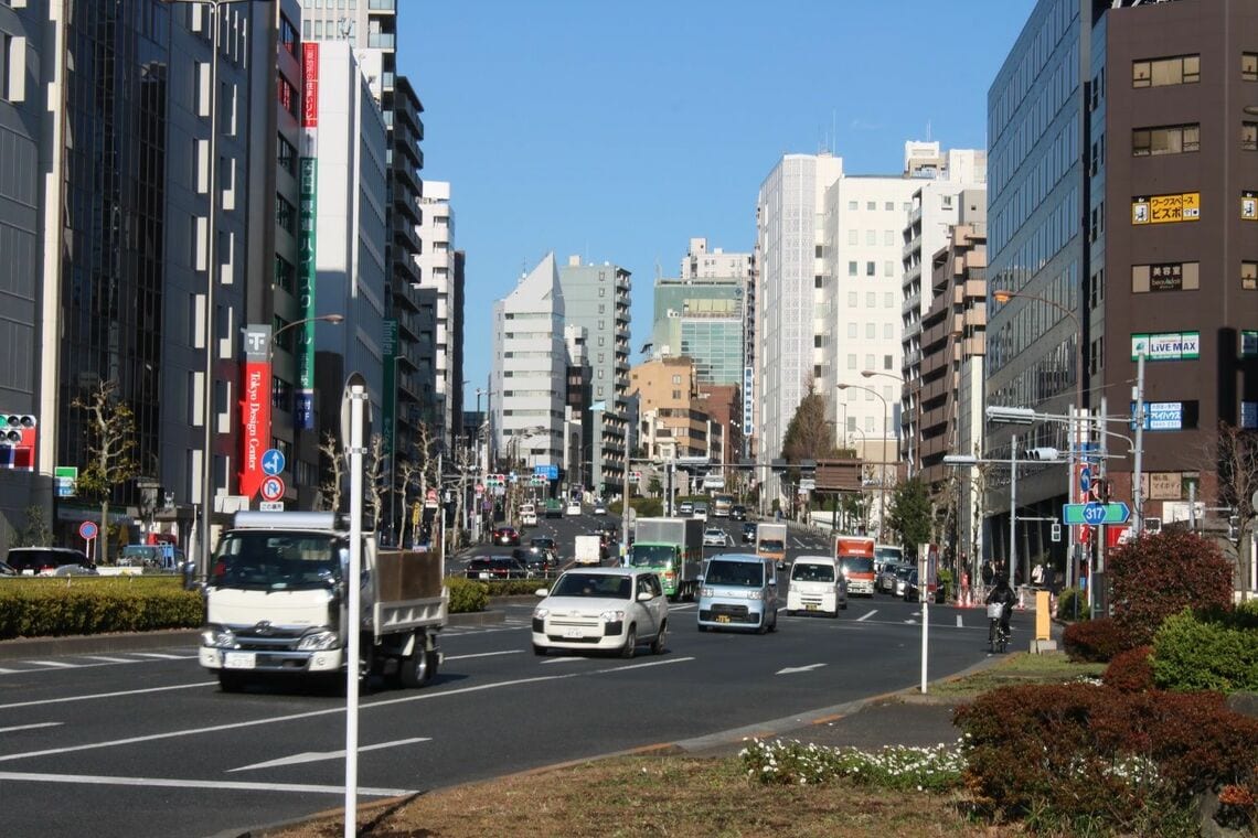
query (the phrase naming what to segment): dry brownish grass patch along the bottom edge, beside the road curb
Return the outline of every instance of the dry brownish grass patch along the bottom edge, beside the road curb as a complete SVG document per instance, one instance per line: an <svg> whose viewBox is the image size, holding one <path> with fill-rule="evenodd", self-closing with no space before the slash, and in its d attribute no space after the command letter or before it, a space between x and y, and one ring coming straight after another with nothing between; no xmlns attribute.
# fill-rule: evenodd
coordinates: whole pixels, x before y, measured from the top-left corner
<svg viewBox="0 0 1258 838"><path fill-rule="evenodd" d="M738 758L625 756L460 785L359 810L365 838L805 838L990 834L970 820L962 793L891 792L847 780L772 785ZM333 838L330 818L267 838ZM1001 835L1024 834L1001 827Z"/></svg>

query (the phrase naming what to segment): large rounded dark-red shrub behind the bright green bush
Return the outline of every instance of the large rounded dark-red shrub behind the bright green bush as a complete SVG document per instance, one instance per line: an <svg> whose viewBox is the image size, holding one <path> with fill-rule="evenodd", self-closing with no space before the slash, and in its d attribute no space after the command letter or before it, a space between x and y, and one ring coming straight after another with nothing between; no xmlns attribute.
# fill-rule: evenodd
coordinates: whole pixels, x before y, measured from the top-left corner
<svg viewBox="0 0 1258 838"><path fill-rule="evenodd" d="M1232 562L1194 533L1141 535L1117 548L1108 568L1113 618L1132 646L1151 643L1162 621L1185 607L1232 602Z"/></svg>

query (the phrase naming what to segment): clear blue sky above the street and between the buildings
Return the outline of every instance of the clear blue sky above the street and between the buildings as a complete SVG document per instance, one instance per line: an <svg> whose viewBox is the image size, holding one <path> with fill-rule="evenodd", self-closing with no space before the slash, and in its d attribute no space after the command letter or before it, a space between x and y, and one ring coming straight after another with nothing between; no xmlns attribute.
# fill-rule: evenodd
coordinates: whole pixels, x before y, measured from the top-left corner
<svg viewBox="0 0 1258 838"><path fill-rule="evenodd" d="M907 139L986 147L986 95L1034 0L455 0L399 4L424 178L467 251L465 406L492 305L554 250L633 274L632 362L655 266L692 236L750 251L756 191L825 148L898 173Z"/></svg>

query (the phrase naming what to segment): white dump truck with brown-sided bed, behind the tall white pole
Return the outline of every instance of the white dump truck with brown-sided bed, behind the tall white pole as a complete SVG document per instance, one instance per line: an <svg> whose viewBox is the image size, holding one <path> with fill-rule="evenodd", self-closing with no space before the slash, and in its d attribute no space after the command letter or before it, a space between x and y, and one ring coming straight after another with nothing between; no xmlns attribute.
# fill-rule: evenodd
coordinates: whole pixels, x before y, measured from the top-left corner
<svg viewBox="0 0 1258 838"><path fill-rule="evenodd" d="M348 650L348 526L335 513L237 513L205 583L200 662L226 692L257 676L335 676ZM418 687L437 673L449 592L438 553L362 536L359 673Z"/></svg>

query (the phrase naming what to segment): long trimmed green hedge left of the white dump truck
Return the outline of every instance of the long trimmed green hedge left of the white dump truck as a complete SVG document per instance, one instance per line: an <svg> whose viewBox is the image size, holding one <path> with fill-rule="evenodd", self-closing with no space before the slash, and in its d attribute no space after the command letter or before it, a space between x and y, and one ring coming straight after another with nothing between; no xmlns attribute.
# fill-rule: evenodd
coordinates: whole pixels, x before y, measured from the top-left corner
<svg viewBox="0 0 1258 838"><path fill-rule="evenodd" d="M0 639L196 628L201 596L177 577L67 577L0 583Z"/></svg>

